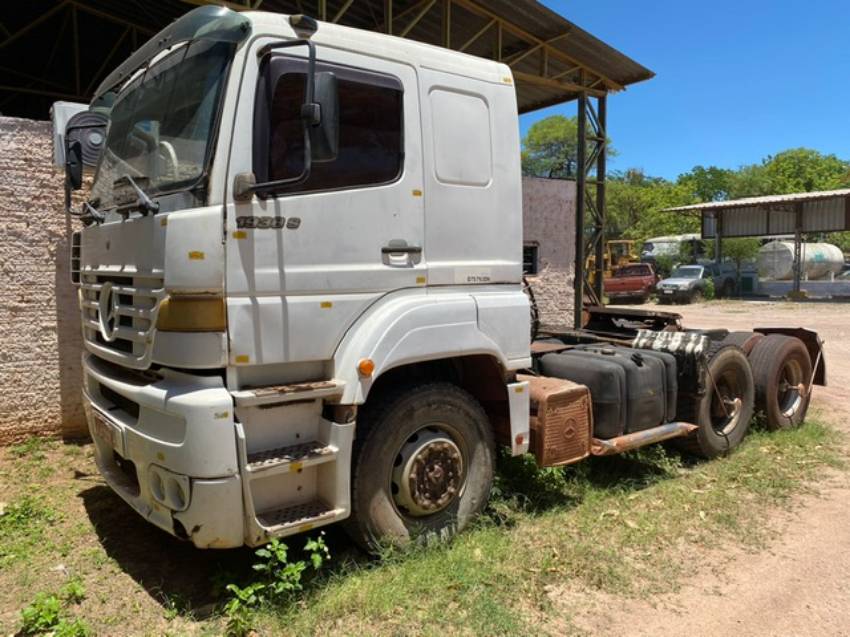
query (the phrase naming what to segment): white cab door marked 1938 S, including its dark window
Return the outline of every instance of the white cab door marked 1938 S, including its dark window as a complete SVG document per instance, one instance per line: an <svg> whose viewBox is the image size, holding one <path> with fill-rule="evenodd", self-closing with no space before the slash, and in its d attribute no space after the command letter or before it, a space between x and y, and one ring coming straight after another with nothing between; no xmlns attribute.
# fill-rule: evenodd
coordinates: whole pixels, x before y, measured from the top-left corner
<svg viewBox="0 0 850 637"><path fill-rule="evenodd" d="M298 47L256 62L248 56L231 191L239 173L253 172L265 182L304 168L306 54ZM414 69L318 45L316 70L337 76L336 159L313 163L303 184L261 192L248 202L228 195L234 365L328 360L370 304L427 280ZM240 131L250 131L250 144Z"/></svg>

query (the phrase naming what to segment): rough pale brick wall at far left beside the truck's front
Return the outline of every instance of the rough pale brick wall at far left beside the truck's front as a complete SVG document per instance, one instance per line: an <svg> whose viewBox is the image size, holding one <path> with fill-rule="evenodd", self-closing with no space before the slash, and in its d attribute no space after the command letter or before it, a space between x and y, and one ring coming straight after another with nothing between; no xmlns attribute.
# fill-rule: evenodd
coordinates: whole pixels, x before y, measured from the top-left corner
<svg viewBox="0 0 850 637"><path fill-rule="evenodd" d="M72 225L49 122L0 117L0 443L80 436L80 319Z"/></svg>

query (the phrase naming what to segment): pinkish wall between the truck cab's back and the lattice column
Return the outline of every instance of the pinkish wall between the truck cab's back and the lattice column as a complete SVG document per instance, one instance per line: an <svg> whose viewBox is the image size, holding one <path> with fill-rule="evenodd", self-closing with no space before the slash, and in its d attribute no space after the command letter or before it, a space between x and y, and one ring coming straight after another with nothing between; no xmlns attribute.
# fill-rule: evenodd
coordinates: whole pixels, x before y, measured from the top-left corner
<svg viewBox="0 0 850 637"><path fill-rule="evenodd" d="M528 277L541 323L573 324L576 184L522 180L523 242L538 246L538 274Z"/></svg>

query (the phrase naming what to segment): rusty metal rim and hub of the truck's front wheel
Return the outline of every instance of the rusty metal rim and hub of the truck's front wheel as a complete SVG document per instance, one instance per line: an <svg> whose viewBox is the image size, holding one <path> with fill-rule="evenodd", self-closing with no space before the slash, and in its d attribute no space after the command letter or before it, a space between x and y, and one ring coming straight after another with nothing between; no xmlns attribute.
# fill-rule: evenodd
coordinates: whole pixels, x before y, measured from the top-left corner
<svg viewBox="0 0 850 637"><path fill-rule="evenodd" d="M390 492L406 515L423 517L449 507L463 491L466 463L452 436L439 425L413 433L396 454Z"/></svg>

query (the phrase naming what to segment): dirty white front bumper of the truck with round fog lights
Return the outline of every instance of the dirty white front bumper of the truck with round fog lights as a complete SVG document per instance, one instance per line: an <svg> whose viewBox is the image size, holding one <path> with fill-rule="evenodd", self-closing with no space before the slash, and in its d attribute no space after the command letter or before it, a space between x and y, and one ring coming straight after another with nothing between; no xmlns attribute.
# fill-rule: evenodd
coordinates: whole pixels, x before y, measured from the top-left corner
<svg viewBox="0 0 850 637"><path fill-rule="evenodd" d="M233 399L217 376L135 373L83 355L98 469L140 515L199 548L244 543Z"/></svg>

